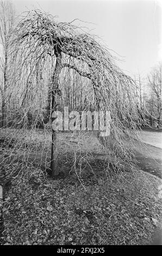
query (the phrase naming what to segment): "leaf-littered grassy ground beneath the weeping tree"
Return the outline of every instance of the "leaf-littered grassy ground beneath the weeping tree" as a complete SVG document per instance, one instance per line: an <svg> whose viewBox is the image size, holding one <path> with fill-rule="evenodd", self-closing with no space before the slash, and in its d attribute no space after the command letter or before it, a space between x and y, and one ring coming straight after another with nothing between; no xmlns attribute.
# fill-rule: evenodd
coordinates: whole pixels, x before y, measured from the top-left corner
<svg viewBox="0 0 162 256"><path fill-rule="evenodd" d="M63 136L68 150L78 145L76 138L69 134ZM39 138L41 141L41 135ZM92 147L89 139L86 138L86 149ZM145 165L149 159L144 157L148 155L147 150L142 151L143 156L136 155L138 160L144 159L140 164L146 172L127 169L114 173L110 168L105 173L102 168L105 156L95 137L92 142L95 162L91 162L92 169L85 164L82 173L77 165L78 177L71 170L69 159L62 157L61 176L56 179L35 170L25 178L19 176L4 184L2 244L146 245L153 242L161 225L161 179L157 173L147 172ZM148 147L154 149L154 156L160 156L161 149ZM40 155L35 159L40 161ZM157 168L154 162L148 164L148 171L150 167ZM26 168L29 170L30 166Z"/></svg>

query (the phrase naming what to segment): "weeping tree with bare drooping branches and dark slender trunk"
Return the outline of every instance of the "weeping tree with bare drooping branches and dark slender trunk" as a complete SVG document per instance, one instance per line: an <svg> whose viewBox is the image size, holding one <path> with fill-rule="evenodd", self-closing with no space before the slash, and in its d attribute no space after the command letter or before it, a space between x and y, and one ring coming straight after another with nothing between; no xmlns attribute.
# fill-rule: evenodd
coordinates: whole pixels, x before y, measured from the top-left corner
<svg viewBox="0 0 162 256"><path fill-rule="evenodd" d="M37 109L37 117L43 121L42 109L46 104L51 123L52 113L60 104L66 104L65 88L77 84L77 88L84 87L85 99L93 102L97 111L111 113L111 132L101 139L103 145L108 147L111 142L114 157L130 163L121 138L128 130L137 136L140 120L135 83L116 66L108 47L100 44L96 36L84 32L75 21L58 23L55 17L40 10L29 11L16 27L13 59L22 113L14 124L27 129L29 109ZM52 176L58 175L57 157L57 131L52 130Z"/></svg>

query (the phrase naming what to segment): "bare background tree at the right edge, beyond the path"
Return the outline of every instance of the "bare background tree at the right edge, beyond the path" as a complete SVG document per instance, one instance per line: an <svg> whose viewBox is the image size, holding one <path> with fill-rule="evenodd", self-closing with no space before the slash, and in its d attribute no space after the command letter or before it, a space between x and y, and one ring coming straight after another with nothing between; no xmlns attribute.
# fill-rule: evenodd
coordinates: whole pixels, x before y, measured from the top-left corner
<svg viewBox="0 0 162 256"><path fill-rule="evenodd" d="M162 100L162 63L159 63L148 75L148 85L151 88L152 101L155 117L159 128L161 120Z"/></svg>

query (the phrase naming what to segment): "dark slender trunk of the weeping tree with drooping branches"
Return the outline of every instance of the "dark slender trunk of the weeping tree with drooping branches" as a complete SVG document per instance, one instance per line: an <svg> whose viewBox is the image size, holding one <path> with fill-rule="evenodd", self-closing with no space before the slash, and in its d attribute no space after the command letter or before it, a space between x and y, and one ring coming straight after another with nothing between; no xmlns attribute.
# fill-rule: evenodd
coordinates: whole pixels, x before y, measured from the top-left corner
<svg viewBox="0 0 162 256"><path fill-rule="evenodd" d="M54 111L57 111L58 106L58 96L60 96L60 90L59 90L59 75L61 71L61 53L57 52L57 60L55 64L55 70L52 77L52 92L51 92L51 98L52 98L52 105L51 105L51 113ZM52 117L51 114L51 121L53 122L55 118ZM57 131L52 130L52 148L51 148L51 175L56 176L59 174L58 171L58 148L57 148Z"/></svg>

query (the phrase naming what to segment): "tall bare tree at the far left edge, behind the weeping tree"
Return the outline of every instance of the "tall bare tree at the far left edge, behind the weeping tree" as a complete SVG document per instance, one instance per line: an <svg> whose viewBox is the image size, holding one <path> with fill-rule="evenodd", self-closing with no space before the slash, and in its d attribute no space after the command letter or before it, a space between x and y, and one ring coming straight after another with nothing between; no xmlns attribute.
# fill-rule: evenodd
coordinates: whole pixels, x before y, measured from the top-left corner
<svg viewBox="0 0 162 256"><path fill-rule="evenodd" d="M7 102L10 97L10 44L14 29L15 13L8 1L0 2L0 93L2 100L2 126L7 122Z"/></svg>

